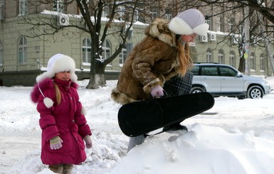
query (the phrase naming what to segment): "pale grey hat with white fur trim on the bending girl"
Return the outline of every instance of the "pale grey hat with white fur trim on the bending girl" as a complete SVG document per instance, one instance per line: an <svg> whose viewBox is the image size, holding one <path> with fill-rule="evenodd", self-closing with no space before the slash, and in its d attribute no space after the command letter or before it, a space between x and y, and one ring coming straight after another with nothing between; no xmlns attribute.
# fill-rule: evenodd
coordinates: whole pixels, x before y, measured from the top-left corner
<svg viewBox="0 0 274 174"><path fill-rule="evenodd" d="M204 15L197 9L182 11L169 22L169 30L178 35L206 35L209 24L205 23Z"/></svg>

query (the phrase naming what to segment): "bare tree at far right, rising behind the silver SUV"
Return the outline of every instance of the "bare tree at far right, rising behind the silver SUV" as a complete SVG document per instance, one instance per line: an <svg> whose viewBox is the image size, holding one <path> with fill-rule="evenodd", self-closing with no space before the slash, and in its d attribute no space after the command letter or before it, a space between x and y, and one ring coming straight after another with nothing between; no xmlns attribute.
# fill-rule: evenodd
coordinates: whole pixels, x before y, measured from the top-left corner
<svg viewBox="0 0 274 174"><path fill-rule="evenodd" d="M270 0L201 0L201 4L204 6L216 6L219 9L224 10L221 13L227 13L228 11L240 11L244 13L245 8L248 8L248 14L245 14L241 20L238 21L237 27L234 28L228 36L233 36L233 33L240 34L241 38L238 40L238 48L240 55L239 68L241 72L245 72L246 62L244 59L244 53L246 52L245 44L252 43L259 45L266 50L268 53L268 58L270 59L270 64L272 71L274 72L274 60L273 60L273 50L269 49L269 44L271 41L270 35L273 35L274 28L274 2ZM242 11L242 12L241 12ZM220 13L215 13L214 15L219 15ZM262 19L263 18L263 19ZM241 26L246 25L246 21L251 21L249 31L249 37L246 38L245 32L241 29ZM264 28L264 29L262 29ZM273 36L272 36L273 37ZM265 40L265 41L263 41Z"/></svg>

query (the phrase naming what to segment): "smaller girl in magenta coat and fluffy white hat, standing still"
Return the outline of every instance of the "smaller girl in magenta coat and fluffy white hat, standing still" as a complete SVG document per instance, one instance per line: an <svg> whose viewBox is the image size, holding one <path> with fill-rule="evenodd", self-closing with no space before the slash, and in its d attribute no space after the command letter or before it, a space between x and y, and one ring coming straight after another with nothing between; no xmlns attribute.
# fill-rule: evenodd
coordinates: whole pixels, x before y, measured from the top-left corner
<svg viewBox="0 0 274 174"><path fill-rule="evenodd" d="M54 173L72 173L74 164L85 161L85 147L93 146L76 81L74 60L57 54L48 60L47 71L36 77L31 92L41 117L41 160Z"/></svg>

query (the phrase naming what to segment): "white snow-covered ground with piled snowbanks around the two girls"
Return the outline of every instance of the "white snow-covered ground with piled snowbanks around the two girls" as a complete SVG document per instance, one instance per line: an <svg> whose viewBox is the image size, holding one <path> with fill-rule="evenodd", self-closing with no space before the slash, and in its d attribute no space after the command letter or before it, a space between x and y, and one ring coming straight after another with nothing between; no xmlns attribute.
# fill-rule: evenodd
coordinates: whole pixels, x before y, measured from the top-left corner
<svg viewBox="0 0 274 174"><path fill-rule="evenodd" d="M274 77L268 77L274 87ZM120 104L107 87L85 89L80 100L93 131L93 148L73 173L274 173L274 92L263 99L218 97L204 114L186 119L186 134L159 134L127 153L129 137L117 124ZM51 173L40 159L41 129L32 87L0 87L0 173ZM214 114L216 112L216 114Z"/></svg>

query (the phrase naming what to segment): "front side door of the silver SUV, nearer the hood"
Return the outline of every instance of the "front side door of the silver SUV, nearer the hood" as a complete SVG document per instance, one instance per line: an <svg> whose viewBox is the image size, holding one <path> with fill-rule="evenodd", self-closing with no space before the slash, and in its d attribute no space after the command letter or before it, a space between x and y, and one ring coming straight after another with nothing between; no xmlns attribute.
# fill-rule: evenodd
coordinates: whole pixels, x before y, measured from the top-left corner
<svg viewBox="0 0 274 174"><path fill-rule="evenodd" d="M221 92L243 92L243 77L237 76L232 67L219 67L221 75Z"/></svg>

